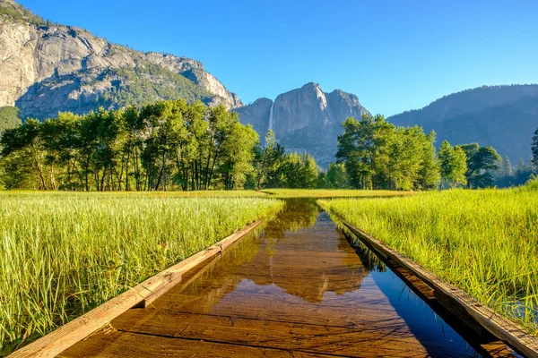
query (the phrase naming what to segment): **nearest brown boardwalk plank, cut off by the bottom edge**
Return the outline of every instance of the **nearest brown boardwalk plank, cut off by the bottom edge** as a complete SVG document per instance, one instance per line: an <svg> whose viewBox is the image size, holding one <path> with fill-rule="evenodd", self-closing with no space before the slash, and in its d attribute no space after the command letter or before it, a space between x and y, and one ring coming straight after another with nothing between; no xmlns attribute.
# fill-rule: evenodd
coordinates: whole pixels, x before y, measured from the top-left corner
<svg viewBox="0 0 538 358"><path fill-rule="evenodd" d="M144 336L133 333L103 331L72 346L62 354L64 358L79 357L326 357L322 354L293 353L288 350L226 345L221 343Z"/></svg>

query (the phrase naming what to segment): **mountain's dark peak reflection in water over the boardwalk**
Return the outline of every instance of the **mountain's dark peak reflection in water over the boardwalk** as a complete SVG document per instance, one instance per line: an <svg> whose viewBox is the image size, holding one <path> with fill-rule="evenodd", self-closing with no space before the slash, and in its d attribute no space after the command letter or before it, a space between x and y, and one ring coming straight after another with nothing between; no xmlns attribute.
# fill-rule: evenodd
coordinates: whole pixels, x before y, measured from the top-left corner
<svg viewBox="0 0 538 358"><path fill-rule="evenodd" d="M257 285L274 284L309 303L321 302L325 292L355 291L368 271L343 235L339 234L336 240L335 234L334 226L324 213L311 229L288 232L285 240L273 243L270 237L265 237L260 249L270 247L273 254L260 250L239 270ZM248 272L266 272L267 275L248 275Z"/></svg>

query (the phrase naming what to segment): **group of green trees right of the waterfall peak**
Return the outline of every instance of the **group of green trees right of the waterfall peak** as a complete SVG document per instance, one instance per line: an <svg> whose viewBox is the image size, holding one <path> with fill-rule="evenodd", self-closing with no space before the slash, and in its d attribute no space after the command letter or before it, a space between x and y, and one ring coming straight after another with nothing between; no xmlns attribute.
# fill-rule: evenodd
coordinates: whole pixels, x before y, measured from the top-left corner
<svg viewBox="0 0 538 358"><path fill-rule="evenodd" d="M532 164L520 159L513 170L508 157L503 160L495 149L477 143L451 146L443 141L436 152L435 132L425 133L417 125L397 127L383 115L347 118L343 129L336 163L326 173L332 187L431 190L510 186L525 183L538 167L538 130L533 137ZM506 174L501 175L499 169Z"/></svg>

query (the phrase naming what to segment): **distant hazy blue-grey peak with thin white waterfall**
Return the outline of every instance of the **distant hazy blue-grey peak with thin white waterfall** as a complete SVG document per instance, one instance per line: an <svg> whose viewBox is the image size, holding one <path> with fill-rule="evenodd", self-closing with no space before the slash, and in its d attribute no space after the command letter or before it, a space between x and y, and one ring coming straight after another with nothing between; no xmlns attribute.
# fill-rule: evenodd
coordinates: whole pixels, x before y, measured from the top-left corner
<svg viewBox="0 0 538 358"><path fill-rule="evenodd" d="M274 101L256 99L236 111L241 123L252 124L262 139L273 129L276 140L287 150L306 151L325 168L334 161L342 122L349 116L360 118L368 113L357 96L342 90L325 93L313 82L282 93Z"/></svg>

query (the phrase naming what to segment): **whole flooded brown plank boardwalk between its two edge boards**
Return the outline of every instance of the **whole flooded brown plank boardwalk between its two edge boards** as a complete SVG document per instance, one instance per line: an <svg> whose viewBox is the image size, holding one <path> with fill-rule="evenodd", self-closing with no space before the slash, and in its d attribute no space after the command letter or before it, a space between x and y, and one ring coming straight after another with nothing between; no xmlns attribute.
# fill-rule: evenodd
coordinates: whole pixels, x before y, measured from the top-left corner
<svg viewBox="0 0 538 358"><path fill-rule="evenodd" d="M477 356L430 306L358 254L315 201L279 217L61 356Z"/></svg>

